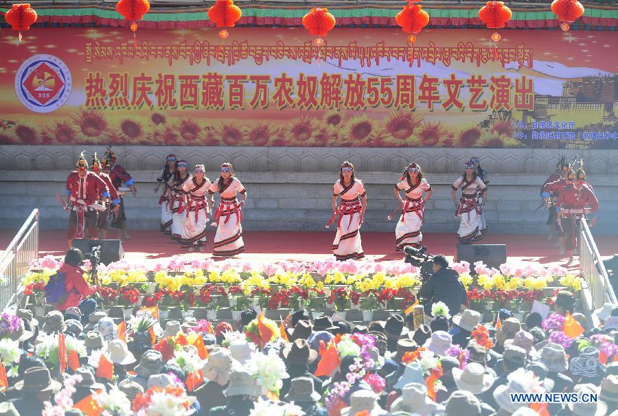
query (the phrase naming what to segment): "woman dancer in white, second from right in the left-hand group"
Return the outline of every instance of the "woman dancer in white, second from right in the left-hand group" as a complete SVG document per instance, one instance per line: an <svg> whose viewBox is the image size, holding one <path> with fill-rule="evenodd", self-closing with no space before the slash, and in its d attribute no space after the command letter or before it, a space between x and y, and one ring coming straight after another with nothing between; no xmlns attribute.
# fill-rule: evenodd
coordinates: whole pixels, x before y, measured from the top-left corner
<svg viewBox="0 0 618 416"><path fill-rule="evenodd" d="M210 195L210 199L207 199L212 183L204 176L205 172L204 165L195 165L193 178L183 185L187 216L179 241L189 251L202 251L202 246L206 244L206 223L209 221L208 213L214 204L214 196Z"/></svg>

